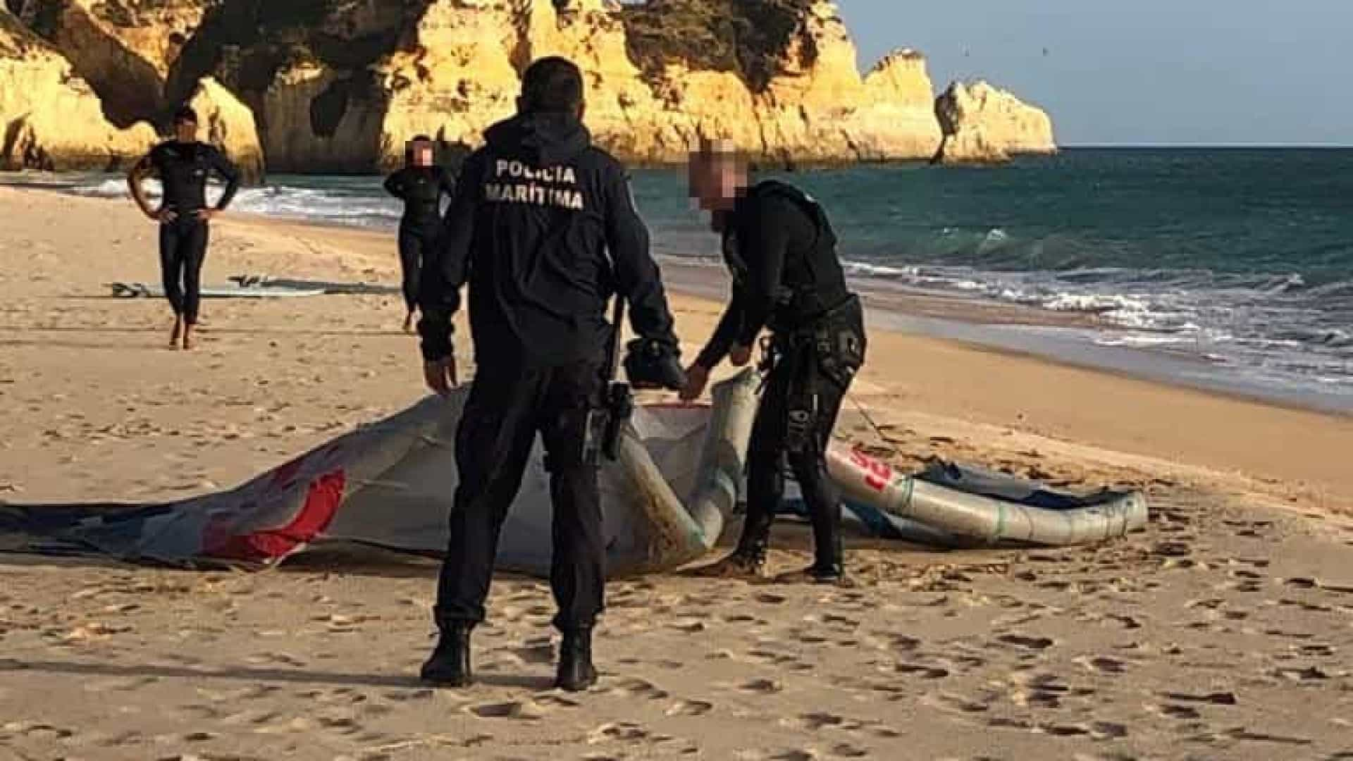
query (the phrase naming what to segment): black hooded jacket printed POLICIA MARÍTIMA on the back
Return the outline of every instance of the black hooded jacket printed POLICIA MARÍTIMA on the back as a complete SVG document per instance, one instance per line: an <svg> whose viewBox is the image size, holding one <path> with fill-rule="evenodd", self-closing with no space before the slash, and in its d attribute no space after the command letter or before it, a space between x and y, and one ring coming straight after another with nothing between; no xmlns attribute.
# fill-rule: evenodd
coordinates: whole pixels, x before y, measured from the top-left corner
<svg viewBox="0 0 1353 761"><path fill-rule="evenodd" d="M423 263L423 356L451 353L451 317L469 284L475 360L549 367L601 359L610 297L635 333L676 349L648 230L624 168L563 114L490 127L460 171L437 245Z"/></svg>

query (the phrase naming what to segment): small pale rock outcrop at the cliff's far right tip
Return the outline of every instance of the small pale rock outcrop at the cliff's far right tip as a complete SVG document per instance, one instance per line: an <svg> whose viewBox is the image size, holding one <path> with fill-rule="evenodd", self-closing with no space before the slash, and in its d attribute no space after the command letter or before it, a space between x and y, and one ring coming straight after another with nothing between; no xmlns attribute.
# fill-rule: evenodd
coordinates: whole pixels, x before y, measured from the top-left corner
<svg viewBox="0 0 1353 761"><path fill-rule="evenodd" d="M985 81L954 83L935 99L944 162L1001 162L1012 153L1055 153L1047 114Z"/></svg>

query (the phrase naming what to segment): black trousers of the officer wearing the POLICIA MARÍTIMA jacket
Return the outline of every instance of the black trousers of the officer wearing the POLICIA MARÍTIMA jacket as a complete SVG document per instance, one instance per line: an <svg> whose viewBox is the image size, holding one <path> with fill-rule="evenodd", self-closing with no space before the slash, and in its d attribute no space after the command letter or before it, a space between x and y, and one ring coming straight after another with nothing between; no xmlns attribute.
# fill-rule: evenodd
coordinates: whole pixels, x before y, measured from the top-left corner
<svg viewBox="0 0 1353 761"><path fill-rule="evenodd" d="M583 440L602 383L599 360L536 370L479 367L456 432L460 486L437 586L438 624L484 619L498 535L538 432L553 502L555 626L593 626L603 607L606 547L597 463L589 462Z"/></svg>

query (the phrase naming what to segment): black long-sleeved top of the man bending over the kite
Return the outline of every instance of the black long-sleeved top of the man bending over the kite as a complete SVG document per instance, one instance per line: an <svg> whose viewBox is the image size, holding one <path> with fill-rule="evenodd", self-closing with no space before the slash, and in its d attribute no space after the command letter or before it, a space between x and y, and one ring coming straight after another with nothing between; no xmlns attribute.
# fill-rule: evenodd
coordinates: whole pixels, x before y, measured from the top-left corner
<svg viewBox="0 0 1353 761"><path fill-rule="evenodd" d="M794 186L758 183L720 225L733 295L697 364L717 366L733 344L751 347L766 326L812 325L850 298L836 233L823 207Z"/></svg>

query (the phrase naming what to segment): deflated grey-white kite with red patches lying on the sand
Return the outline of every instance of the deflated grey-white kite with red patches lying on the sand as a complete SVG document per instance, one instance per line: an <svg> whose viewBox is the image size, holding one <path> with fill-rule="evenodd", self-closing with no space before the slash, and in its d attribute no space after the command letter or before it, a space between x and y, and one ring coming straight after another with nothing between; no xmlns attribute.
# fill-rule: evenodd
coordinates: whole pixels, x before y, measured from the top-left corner
<svg viewBox="0 0 1353 761"><path fill-rule="evenodd" d="M709 552L735 513L756 410L752 371L714 387L710 406L636 409L601 470L610 575L671 570ZM0 505L8 548L92 551L175 565L269 566L317 542L421 554L446 547L457 482L455 432L468 395L428 397L242 486L153 505ZM947 463L907 475L842 443L828 451L856 529L939 546L1074 544L1146 524L1141 493L1059 494ZM796 502L787 504L794 512ZM802 509L801 502L797 509ZM502 531L498 565L549 573L549 475L540 444Z"/></svg>

